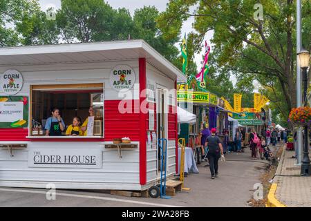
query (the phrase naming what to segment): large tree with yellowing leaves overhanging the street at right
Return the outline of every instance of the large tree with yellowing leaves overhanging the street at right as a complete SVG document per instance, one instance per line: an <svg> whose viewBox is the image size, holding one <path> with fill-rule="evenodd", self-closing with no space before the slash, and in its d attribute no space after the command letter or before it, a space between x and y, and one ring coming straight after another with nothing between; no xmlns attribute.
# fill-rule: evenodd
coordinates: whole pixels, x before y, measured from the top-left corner
<svg viewBox="0 0 311 221"><path fill-rule="evenodd" d="M182 22L194 16L194 37L198 39L194 51L200 50L206 33L214 30L212 43L218 67L234 71L242 85L247 84L247 79L249 84L257 80L262 85L271 79L281 92L276 94L276 100L283 103L280 108L288 115L296 106L296 2L260 1L262 17L258 17L260 10L256 3L258 1L252 0L171 0L160 15L158 26L164 37L174 38L180 35ZM196 10L190 11L191 6L196 6ZM309 50L310 12L310 1L303 1L303 43Z"/></svg>

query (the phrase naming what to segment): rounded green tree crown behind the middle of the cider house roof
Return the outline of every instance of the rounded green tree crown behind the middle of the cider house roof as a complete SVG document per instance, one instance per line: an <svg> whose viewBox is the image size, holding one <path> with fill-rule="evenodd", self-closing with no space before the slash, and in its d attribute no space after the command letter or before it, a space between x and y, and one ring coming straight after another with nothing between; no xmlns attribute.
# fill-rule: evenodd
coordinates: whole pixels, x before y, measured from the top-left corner
<svg viewBox="0 0 311 221"><path fill-rule="evenodd" d="M102 0L62 0L57 25L66 41L111 39L114 10Z"/></svg>

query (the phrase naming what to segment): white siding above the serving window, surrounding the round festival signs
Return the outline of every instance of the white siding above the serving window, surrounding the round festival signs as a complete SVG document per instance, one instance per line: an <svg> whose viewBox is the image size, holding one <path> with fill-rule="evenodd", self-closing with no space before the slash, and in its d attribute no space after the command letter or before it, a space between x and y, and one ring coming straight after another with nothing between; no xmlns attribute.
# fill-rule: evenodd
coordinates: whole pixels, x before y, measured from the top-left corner
<svg viewBox="0 0 311 221"><path fill-rule="evenodd" d="M8 69L17 69L23 75L23 88L17 95L28 95L31 84L104 84L106 100L122 99L111 88L109 77L111 70L117 65L128 65L133 68L136 79L136 87L127 94L127 99L139 99L139 68L138 60L112 61L87 64L55 64L46 66L0 66L0 73ZM0 93L0 95L4 95ZM129 97L131 95L131 97Z"/></svg>

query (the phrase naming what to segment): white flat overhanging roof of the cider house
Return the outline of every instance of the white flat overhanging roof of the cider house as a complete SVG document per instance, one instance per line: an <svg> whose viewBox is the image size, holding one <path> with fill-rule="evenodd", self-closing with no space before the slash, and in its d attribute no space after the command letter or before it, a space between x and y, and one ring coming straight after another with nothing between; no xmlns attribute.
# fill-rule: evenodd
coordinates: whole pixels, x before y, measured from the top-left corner
<svg viewBox="0 0 311 221"><path fill-rule="evenodd" d="M0 66L116 61L146 58L147 62L177 81L183 73L144 40L103 41L0 48Z"/></svg>

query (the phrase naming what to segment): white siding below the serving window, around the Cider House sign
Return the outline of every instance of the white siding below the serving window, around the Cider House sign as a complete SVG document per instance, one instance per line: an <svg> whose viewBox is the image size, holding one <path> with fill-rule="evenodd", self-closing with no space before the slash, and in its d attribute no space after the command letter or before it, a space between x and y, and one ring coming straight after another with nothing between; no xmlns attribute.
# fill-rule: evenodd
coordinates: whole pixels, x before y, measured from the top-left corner
<svg viewBox="0 0 311 221"><path fill-rule="evenodd" d="M131 190L133 185L140 183L139 149L122 150L122 158L120 158L117 150L106 150L103 142L27 143L26 150L13 150L13 157L7 150L0 151L0 185L29 187L30 182L32 182L30 186L35 186L40 182L55 182L56 184L76 182L81 183L83 189L88 189L92 183L98 183L104 189L104 186L110 184L129 184L128 189ZM67 151L72 150L73 153L77 153L79 148L99 149L102 151L102 168L28 167L28 151L44 151L50 148L66 148ZM155 167L154 164L155 162L151 162L148 170L152 170L152 167ZM70 185L67 188L70 188ZM126 189L126 185L122 186L122 189Z"/></svg>

